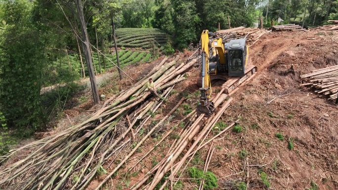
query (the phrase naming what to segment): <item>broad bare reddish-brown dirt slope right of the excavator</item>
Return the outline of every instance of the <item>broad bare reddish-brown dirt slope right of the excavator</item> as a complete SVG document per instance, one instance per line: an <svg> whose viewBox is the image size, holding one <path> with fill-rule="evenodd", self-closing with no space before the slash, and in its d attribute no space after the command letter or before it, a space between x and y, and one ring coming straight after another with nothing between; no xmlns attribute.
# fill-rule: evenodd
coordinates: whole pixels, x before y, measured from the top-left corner
<svg viewBox="0 0 338 190"><path fill-rule="evenodd" d="M238 156L245 150L250 166L249 189L270 186L296 190L314 188L314 183L321 190L338 189L338 107L298 87L299 74L325 67L329 54L337 57L335 47L328 46L331 42L337 47L332 44L333 37L272 33L251 47L252 62L260 73L233 95L232 106L222 118L229 123L240 116L244 132L229 132L217 141L221 148L213 159L212 171L221 177L222 188L231 189L234 181L247 176L233 175L246 165L246 159ZM309 38L315 40L306 40ZM294 71L290 70L292 64ZM277 133L284 136L284 141L275 137ZM288 141L293 142L294 150L288 149ZM263 183L261 172L267 174L269 185Z"/></svg>

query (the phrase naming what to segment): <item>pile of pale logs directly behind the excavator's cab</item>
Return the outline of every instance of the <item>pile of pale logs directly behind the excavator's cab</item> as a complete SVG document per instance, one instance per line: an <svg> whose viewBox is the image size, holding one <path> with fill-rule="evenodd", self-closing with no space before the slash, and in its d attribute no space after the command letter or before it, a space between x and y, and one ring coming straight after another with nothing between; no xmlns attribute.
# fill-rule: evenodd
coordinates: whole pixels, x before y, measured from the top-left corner
<svg viewBox="0 0 338 190"><path fill-rule="evenodd" d="M215 34L218 37L222 37L223 42L227 43L230 40L234 39L243 39L247 38L247 43L249 45L255 44L261 36L265 33L269 33L271 31L267 31L265 29L258 29L258 28L245 28L243 26L237 28L231 28L227 30L219 30L216 31Z"/></svg>

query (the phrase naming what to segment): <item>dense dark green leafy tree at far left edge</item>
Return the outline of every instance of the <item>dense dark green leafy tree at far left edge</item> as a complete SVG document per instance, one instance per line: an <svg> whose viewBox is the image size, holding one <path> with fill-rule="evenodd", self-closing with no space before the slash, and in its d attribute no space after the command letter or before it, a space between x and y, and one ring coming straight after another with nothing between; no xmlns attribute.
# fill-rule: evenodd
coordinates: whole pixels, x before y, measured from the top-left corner
<svg viewBox="0 0 338 190"><path fill-rule="evenodd" d="M9 126L38 129L45 123L40 89L46 33L32 22L34 2L0 6L0 110Z"/></svg>

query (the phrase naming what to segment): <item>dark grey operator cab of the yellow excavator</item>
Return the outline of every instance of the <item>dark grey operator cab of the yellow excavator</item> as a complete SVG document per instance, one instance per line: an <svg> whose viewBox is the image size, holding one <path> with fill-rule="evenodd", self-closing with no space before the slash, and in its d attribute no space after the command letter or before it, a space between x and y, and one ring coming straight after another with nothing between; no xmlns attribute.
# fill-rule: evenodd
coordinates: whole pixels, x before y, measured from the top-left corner
<svg viewBox="0 0 338 190"><path fill-rule="evenodd" d="M246 45L246 40L231 40L226 47L228 51L228 75L233 77L244 76L249 59L249 47Z"/></svg>

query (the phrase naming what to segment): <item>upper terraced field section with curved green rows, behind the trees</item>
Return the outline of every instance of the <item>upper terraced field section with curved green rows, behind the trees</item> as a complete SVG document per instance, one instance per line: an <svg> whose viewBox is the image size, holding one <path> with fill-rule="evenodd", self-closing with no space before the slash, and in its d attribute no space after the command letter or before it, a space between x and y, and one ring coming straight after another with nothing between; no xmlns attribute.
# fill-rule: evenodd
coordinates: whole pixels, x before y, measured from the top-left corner
<svg viewBox="0 0 338 190"><path fill-rule="evenodd" d="M167 34L156 28L120 28L116 30L118 47L164 48Z"/></svg>

